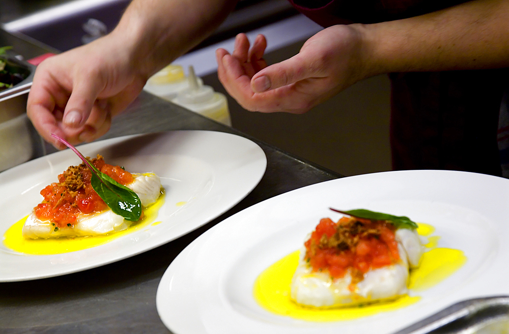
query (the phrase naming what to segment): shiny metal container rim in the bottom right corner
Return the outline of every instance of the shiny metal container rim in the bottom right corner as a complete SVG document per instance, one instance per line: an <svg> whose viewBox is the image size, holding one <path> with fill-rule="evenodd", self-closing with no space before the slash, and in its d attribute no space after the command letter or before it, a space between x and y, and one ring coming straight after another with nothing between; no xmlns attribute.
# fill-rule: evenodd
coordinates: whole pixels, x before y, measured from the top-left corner
<svg viewBox="0 0 509 334"><path fill-rule="evenodd" d="M509 332L509 296L458 302L394 334L502 334Z"/></svg>

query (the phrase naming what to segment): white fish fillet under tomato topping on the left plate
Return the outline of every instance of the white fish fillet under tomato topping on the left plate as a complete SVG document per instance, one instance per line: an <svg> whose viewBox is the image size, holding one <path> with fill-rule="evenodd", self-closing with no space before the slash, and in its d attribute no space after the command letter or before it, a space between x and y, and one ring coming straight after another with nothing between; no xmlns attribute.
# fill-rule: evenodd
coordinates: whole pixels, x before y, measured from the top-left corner
<svg viewBox="0 0 509 334"><path fill-rule="evenodd" d="M133 173L134 181L127 185L129 189L138 195L142 206L147 207L159 198L161 181L154 173ZM25 238L54 238L60 236L83 236L107 234L113 231L122 231L129 227L132 222L125 220L122 216L115 214L111 209L101 212L94 212L89 215L80 215L77 223L71 227L59 228L51 221L42 221L32 212L26 219L22 228Z"/></svg>

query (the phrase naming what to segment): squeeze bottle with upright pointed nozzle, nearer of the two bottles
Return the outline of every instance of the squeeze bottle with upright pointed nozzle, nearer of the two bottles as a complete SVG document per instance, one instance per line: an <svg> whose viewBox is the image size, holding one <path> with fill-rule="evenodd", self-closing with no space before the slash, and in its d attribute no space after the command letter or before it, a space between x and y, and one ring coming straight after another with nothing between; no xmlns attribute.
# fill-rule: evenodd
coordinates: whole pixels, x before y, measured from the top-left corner
<svg viewBox="0 0 509 334"><path fill-rule="evenodd" d="M172 102L219 123L232 126L226 97L221 93L214 92L211 86L199 85L192 66L189 66L187 78L189 87L177 94Z"/></svg>

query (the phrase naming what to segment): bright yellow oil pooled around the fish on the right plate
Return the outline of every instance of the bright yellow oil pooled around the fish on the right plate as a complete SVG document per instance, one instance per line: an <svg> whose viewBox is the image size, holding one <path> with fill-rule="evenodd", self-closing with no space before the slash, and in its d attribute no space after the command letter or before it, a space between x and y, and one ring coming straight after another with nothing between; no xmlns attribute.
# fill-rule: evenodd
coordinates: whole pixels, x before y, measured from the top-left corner
<svg viewBox="0 0 509 334"><path fill-rule="evenodd" d="M417 232L420 235L429 236L434 232L434 228L428 224L419 224ZM438 237L433 240L438 241ZM466 262L462 251L436 248L436 241L430 241L426 245L432 249L423 254L419 267L410 271L408 286L412 291L423 291L440 283ZM403 295L392 300L353 307L313 308L298 305L290 297L290 285L299 263L299 253L299 251L295 251L272 264L260 274L254 283L254 298L266 310L306 321L327 322L353 320L380 312L397 310L420 299L419 296Z"/></svg>

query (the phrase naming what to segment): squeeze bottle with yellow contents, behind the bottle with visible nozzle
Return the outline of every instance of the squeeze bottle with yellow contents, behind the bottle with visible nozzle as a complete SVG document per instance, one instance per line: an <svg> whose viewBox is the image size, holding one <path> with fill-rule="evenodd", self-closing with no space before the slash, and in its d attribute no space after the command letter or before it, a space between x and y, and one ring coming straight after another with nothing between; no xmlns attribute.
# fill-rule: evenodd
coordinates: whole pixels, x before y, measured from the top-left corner
<svg viewBox="0 0 509 334"><path fill-rule="evenodd" d="M203 84L200 78L196 80L198 85ZM168 101L175 99L179 92L186 88L189 88L189 80L184 74L184 69L180 65L173 64L151 76L143 87L147 92Z"/></svg>

